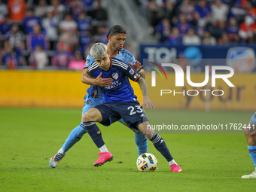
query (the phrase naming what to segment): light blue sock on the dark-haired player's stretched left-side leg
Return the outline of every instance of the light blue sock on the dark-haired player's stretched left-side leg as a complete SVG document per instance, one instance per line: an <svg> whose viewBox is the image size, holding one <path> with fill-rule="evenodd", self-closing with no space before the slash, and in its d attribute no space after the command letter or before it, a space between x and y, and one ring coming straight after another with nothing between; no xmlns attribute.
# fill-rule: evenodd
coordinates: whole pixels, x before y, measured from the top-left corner
<svg viewBox="0 0 256 192"><path fill-rule="evenodd" d="M69 151L69 149L72 148L76 142L79 142L79 140L84 136L85 133L87 133L87 130L84 130L84 123L80 123L79 126L75 127L75 129L72 130L72 132L69 134L68 139L62 145L63 151Z"/></svg>

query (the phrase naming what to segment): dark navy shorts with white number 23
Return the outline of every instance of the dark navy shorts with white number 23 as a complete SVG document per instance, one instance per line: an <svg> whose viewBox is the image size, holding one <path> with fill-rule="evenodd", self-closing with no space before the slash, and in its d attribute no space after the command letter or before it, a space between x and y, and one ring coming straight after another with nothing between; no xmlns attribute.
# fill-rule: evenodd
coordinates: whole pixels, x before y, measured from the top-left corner
<svg viewBox="0 0 256 192"><path fill-rule="evenodd" d="M101 112L102 122L99 123L104 126L110 126L111 123L123 118L130 128L138 130L140 123L148 121L139 102L105 102L94 108Z"/></svg>

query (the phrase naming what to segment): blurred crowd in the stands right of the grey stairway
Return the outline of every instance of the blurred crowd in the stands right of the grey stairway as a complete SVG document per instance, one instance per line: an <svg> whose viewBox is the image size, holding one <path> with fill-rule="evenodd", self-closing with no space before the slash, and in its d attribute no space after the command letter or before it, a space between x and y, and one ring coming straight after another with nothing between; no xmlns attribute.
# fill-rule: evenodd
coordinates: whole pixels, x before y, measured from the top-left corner
<svg viewBox="0 0 256 192"><path fill-rule="evenodd" d="M247 45L256 41L256 1L135 0L160 42Z"/></svg>

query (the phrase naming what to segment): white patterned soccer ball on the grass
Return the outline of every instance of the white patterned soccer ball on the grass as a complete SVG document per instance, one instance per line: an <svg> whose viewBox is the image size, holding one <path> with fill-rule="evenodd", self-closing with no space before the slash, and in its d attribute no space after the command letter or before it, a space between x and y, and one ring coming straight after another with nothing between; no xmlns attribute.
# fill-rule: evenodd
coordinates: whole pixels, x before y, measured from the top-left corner
<svg viewBox="0 0 256 192"><path fill-rule="evenodd" d="M136 162L136 165L140 172L149 172L157 169L157 158L154 154L141 154Z"/></svg>

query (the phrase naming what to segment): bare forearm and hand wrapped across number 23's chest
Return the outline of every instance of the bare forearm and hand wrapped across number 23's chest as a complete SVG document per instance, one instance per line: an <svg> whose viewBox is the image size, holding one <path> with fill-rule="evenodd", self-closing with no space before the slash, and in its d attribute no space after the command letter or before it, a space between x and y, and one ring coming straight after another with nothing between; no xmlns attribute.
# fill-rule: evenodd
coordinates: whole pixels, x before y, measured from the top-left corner
<svg viewBox="0 0 256 192"><path fill-rule="evenodd" d="M109 86L113 81L112 78L102 78L102 73L100 73L97 78L92 78L89 75L88 69L83 69L81 80L84 84L93 84L99 86Z"/></svg>

